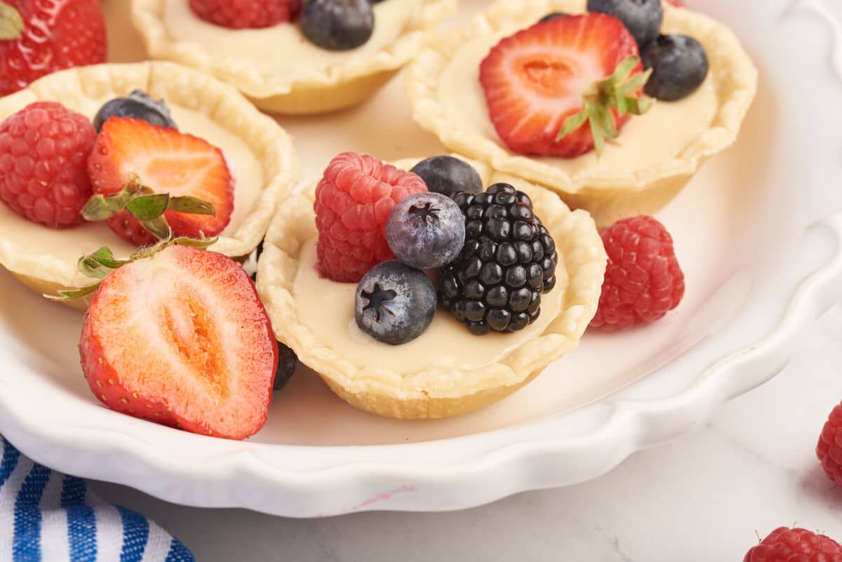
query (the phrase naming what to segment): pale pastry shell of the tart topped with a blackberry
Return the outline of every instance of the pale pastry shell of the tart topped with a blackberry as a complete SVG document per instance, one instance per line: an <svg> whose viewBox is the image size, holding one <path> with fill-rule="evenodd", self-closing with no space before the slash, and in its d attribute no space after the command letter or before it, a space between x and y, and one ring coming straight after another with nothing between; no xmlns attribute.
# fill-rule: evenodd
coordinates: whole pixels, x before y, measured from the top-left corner
<svg viewBox="0 0 842 562"><path fill-rule="evenodd" d="M408 169L416 162L404 160L395 165ZM486 185L512 183L530 195L557 245L558 281L553 290L564 291L557 317L541 336L480 368L449 369L443 377L432 368L399 373L340 357L330 342L322 341L299 320L293 294L301 248L317 232L313 215L316 184L280 205L269 226L258 262L257 286L275 336L351 406L400 419L441 418L477 410L518 390L549 363L577 347L593 318L606 262L594 220L582 210L568 209L551 191L473 163ZM447 314L444 310L439 313Z"/></svg>

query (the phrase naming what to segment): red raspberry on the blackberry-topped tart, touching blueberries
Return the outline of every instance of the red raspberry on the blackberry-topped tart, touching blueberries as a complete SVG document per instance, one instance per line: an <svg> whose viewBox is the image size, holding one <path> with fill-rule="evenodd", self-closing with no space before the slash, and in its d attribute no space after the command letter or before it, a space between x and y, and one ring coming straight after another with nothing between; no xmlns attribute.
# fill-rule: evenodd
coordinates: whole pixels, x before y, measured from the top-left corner
<svg viewBox="0 0 842 562"><path fill-rule="evenodd" d="M374 156L343 152L334 157L313 204L322 275L357 283L370 268L394 258L386 243L386 220L401 199L422 191L427 191L423 179Z"/></svg>

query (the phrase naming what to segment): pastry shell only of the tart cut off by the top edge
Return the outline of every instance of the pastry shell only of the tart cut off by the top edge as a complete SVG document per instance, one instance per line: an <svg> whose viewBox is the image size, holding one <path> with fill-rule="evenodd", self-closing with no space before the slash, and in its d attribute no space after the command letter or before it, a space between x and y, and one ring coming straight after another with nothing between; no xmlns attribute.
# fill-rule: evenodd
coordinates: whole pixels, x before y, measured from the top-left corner
<svg viewBox="0 0 842 562"><path fill-rule="evenodd" d="M242 58L218 59L195 42L170 36L164 23L165 0L132 0L132 21L149 56L176 61L235 84L251 101L274 114L324 114L370 98L424 44L424 36L456 12L457 0L418 0L416 17L392 44L365 56L329 66L307 77L261 72Z"/></svg>

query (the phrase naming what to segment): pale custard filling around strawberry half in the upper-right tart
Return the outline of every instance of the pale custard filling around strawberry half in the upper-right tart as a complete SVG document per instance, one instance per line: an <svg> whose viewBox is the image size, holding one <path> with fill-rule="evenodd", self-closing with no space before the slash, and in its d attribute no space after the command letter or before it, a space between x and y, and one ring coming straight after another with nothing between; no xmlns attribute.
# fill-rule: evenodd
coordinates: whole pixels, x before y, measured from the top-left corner
<svg viewBox="0 0 842 562"><path fill-rule="evenodd" d="M437 101L455 129L482 135L512 154L488 117L488 107L479 82L479 66L488 51L514 31L486 34L461 45L441 73L437 90ZM628 172L655 166L679 156L685 146L708 130L718 106L716 87L708 77L687 98L679 102L656 102L647 114L632 117L621 130L619 138L606 145L599 157L595 151L590 151L578 158L545 156L535 159L560 168L571 176L584 170L589 173Z"/></svg>

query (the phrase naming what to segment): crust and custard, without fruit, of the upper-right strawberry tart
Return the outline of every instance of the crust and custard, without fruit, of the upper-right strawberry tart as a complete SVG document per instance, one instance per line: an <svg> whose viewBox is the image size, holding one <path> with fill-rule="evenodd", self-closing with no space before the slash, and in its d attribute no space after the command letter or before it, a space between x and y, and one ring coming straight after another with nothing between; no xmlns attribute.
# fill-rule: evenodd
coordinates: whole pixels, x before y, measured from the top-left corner
<svg viewBox="0 0 842 562"><path fill-rule="evenodd" d="M664 3L664 34L687 34L705 46L710 72L679 102L656 102L632 117L616 145L600 158L520 156L488 117L479 64L505 36L547 13L584 13L586 0L498 0L461 29L430 37L407 68L413 118L453 151L494 169L540 183L573 208L588 209L604 227L630 215L652 214L685 186L701 163L737 139L757 90L757 70L722 24Z"/></svg>

